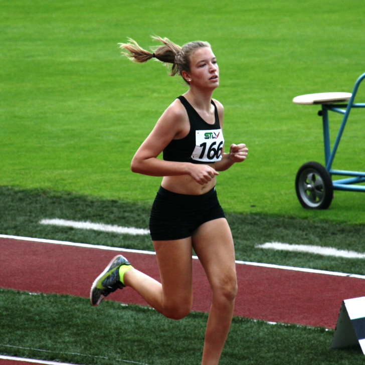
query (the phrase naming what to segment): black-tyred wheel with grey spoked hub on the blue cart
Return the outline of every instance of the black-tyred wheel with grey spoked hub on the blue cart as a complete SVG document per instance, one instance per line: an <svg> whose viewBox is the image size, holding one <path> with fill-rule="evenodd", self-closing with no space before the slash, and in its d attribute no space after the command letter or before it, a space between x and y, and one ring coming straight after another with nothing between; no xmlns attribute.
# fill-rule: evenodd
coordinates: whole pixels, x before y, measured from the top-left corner
<svg viewBox="0 0 365 365"><path fill-rule="evenodd" d="M307 162L297 172L295 191L304 208L327 209L333 199L331 175L320 163Z"/></svg>

